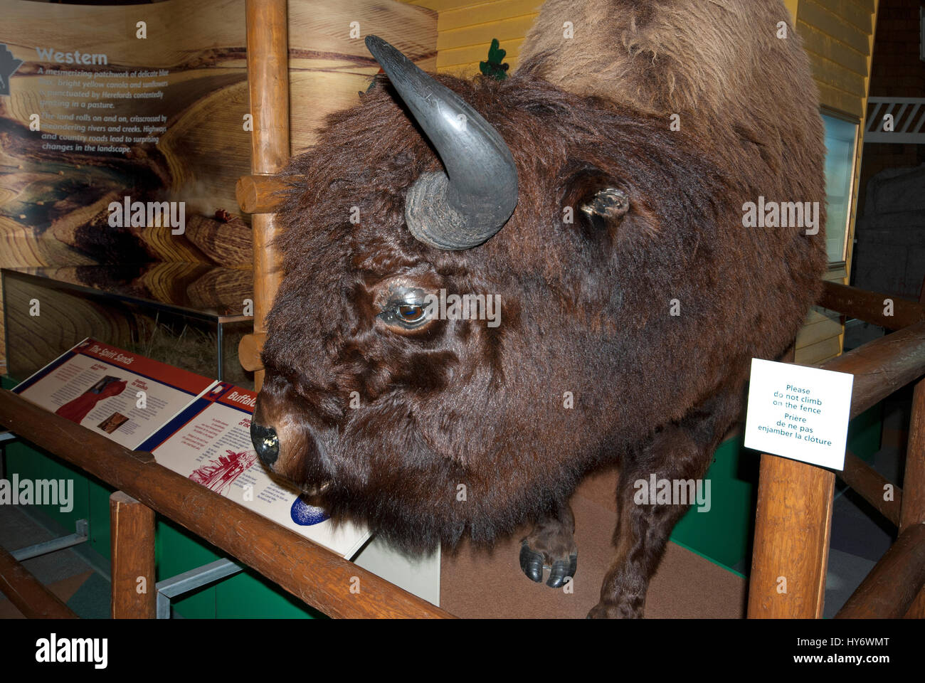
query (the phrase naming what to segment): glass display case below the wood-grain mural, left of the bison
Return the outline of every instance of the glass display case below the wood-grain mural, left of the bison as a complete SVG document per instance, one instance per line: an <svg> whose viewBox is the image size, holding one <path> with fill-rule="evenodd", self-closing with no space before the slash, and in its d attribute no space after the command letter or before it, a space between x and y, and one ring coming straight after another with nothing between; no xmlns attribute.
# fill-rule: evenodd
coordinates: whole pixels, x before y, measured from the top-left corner
<svg viewBox="0 0 925 683"><path fill-rule="evenodd" d="M29 377L85 337L253 388L250 270L185 263L3 268L6 373Z"/></svg>

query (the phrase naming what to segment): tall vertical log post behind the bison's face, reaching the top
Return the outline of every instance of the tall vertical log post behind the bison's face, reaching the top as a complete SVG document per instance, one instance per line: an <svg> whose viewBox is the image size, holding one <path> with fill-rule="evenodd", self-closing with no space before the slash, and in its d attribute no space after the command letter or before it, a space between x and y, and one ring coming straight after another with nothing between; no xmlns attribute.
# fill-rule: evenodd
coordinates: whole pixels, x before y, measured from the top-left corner
<svg viewBox="0 0 925 683"><path fill-rule="evenodd" d="M247 76L251 94L251 171L277 173L290 157L289 34L286 0L247 0ZM266 331L265 317L279 286L277 231L274 214L254 214L253 228L253 331ZM243 343L243 342L242 342ZM254 346L253 340L248 342ZM253 352L252 352L253 353ZM259 349L258 349L259 353ZM254 365L254 358L246 361ZM264 381L263 368L254 372L254 388Z"/></svg>

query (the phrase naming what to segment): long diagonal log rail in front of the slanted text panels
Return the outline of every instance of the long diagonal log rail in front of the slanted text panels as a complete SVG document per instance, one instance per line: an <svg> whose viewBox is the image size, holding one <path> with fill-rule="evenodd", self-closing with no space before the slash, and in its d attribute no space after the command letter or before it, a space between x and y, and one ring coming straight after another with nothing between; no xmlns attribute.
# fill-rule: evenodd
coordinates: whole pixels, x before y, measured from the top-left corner
<svg viewBox="0 0 925 683"><path fill-rule="evenodd" d="M289 591L339 617L450 617L336 553L11 391L0 425L165 515Z"/></svg>

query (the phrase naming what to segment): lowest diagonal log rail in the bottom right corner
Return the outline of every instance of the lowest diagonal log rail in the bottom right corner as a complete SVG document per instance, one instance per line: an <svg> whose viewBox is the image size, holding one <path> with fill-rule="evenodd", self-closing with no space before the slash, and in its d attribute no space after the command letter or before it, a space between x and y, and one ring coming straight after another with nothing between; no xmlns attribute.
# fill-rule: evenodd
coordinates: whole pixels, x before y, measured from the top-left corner
<svg viewBox="0 0 925 683"><path fill-rule="evenodd" d="M836 619L906 615L925 586L925 524L907 528L861 581Z"/></svg>

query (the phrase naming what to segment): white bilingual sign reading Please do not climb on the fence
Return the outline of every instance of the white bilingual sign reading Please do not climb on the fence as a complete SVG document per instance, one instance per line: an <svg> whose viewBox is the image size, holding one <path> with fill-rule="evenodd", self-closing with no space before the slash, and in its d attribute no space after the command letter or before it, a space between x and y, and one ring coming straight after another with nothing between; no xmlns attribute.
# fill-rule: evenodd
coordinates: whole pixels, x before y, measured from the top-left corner
<svg viewBox="0 0 925 683"><path fill-rule="evenodd" d="M752 358L746 448L845 467L855 376Z"/></svg>

